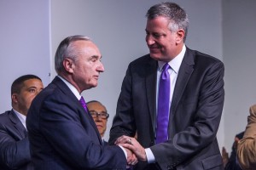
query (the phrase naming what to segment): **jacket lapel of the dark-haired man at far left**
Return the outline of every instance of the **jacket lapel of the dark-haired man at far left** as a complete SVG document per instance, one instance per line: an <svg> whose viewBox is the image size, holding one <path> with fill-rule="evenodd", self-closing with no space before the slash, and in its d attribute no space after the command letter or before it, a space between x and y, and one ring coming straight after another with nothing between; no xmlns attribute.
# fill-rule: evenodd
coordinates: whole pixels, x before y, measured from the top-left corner
<svg viewBox="0 0 256 170"><path fill-rule="evenodd" d="M24 139L27 136L26 128L20 122L18 116L16 116L15 111L10 111L9 119L14 124L18 137Z"/></svg>

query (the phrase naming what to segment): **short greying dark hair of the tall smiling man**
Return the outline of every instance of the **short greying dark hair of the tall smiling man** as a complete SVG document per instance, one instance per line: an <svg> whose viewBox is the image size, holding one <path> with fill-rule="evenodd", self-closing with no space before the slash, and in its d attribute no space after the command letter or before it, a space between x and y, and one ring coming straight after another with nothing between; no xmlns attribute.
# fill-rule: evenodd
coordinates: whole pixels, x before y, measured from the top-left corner
<svg viewBox="0 0 256 170"><path fill-rule="evenodd" d="M164 16L170 20L170 31L176 32L178 29L183 29L185 31L183 42L185 42L189 28L189 19L188 14L186 14L183 8L178 6L177 3L158 3L148 9L146 17L148 20L152 20L158 16Z"/></svg>

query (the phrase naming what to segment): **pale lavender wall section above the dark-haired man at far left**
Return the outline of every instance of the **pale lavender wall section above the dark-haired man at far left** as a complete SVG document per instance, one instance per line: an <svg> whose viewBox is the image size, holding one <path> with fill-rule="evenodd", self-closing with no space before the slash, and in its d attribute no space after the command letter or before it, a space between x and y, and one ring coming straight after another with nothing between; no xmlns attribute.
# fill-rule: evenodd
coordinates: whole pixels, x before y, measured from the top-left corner
<svg viewBox="0 0 256 170"><path fill-rule="evenodd" d="M0 0L0 37L1 114L11 109L17 77L35 74L49 83L49 0Z"/></svg>

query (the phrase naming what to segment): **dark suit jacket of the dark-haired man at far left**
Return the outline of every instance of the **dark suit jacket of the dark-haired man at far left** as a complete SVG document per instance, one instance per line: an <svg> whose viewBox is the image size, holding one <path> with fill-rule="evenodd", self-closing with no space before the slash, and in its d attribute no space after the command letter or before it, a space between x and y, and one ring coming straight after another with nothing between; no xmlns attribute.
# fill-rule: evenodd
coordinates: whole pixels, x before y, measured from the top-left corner
<svg viewBox="0 0 256 170"><path fill-rule="evenodd" d="M0 169L31 170L32 164L26 128L15 112L0 115Z"/></svg>

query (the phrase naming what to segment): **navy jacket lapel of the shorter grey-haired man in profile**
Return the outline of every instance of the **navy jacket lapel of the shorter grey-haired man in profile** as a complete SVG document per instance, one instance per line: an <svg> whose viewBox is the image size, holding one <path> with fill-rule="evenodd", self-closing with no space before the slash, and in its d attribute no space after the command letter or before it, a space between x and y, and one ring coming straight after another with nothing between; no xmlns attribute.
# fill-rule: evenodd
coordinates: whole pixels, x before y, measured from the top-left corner
<svg viewBox="0 0 256 170"><path fill-rule="evenodd" d="M70 100L73 102L74 107L77 107L77 108L79 108L79 111L84 112L84 114L82 114L82 116L85 116L85 119L90 122L90 125L95 129L98 139L99 139L100 143L102 144L102 137L101 137L100 133L98 132L96 124L93 121L93 118L90 116L89 111L87 109L86 109L86 111L84 110L84 107L80 104L79 99L76 98L76 96L73 94L73 92L67 87L65 82L63 82L59 77L55 77L55 79L53 80L53 83L55 83L55 85L61 89L63 94L66 94L70 98Z"/></svg>

